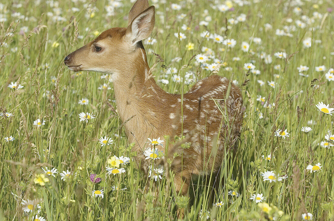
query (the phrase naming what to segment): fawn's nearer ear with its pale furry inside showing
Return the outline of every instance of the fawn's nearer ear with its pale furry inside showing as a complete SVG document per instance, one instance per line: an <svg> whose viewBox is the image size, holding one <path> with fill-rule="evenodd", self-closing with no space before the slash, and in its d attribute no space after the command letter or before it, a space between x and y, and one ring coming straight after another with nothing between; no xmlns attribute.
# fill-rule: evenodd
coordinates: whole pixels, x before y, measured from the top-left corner
<svg viewBox="0 0 334 221"><path fill-rule="evenodd" d="M134 18L126 31L126 37L132 44L136 44L151 35L155 23L154 16L154 6L151 6Z"/></svg>

